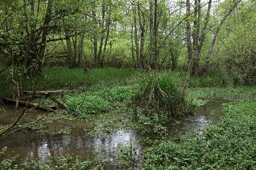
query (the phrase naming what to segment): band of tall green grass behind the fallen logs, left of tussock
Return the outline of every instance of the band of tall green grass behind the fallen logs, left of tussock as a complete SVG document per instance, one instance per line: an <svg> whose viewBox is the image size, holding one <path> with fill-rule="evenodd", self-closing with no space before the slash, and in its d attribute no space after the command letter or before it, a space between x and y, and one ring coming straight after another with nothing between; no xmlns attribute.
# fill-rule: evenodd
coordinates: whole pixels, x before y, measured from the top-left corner
<svg viewBox="0 0 256 170"><path fill-rule="evenodd" d="M133 77L139 76L140 72L134 68L92 68L84 74L83 68L67 67L44 67L42 76L38 78L38 90L57 90L57 89L79 89L85 88L86 84L114 87L126 86L135 81ZM27 76L25 77L23 88L31 90L35 86L37 77L32 75L32 85L29 87ZM46 77L46 78L45 78ZM29 76L30 79L30 76ZM5 72L1 76L0 96L10 96L14 92L12 77Z"/></svg>

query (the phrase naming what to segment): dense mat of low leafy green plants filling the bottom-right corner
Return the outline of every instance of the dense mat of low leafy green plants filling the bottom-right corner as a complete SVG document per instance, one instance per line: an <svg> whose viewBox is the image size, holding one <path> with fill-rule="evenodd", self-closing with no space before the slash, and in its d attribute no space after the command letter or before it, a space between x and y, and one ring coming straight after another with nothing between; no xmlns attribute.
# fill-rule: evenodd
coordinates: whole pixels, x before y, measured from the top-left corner
<svg viewBox="0 0 256 170"><path fill-rule="evenodd" d="M163 141L146 149L142 169L255 169L255 102L229 103L226 116L180 143Z"/></svg>

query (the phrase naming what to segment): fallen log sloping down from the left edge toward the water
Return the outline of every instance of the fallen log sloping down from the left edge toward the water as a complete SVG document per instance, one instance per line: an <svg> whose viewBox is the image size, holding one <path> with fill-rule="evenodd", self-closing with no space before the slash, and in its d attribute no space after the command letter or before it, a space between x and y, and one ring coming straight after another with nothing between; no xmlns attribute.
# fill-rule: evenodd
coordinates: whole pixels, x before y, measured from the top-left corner
<svg viewBox="0 0 256 170"><path fill-rule="evenodd" d="M1 98L1 99L4 100L4 101L7 101L7 102L12 102L12 103L17 102L16 100L9 99L9 98ZM18 103L22 104L22 105L27 104L27 102L22 101L22 100L18 100ZM44 105L44 104L39 104L39 103L31 103L31 102L28 103L28 106L35 107L35 108L38 108L38 109L44 110L44 111L50 111L50 112L55 112L55 110L57 109L56 106Z"/></svg>

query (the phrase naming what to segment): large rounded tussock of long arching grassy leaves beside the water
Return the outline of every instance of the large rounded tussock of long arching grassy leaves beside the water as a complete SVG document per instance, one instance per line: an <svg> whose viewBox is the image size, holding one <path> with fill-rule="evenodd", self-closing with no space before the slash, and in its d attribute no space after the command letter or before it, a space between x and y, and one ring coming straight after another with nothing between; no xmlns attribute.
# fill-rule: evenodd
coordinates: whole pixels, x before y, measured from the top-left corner
<svg viewBox="0 0 256 170"><path fill-rule="evenodd" d="M152 75L144 76L139 84L138 92L135 95L135 101L142 101L142 104L147 105L152 81ZM153 100L153 106L169 116L180 116L185 112L186 104L184 95L182 91L174 85L168 75L159 75L154 88Z"/></svg>

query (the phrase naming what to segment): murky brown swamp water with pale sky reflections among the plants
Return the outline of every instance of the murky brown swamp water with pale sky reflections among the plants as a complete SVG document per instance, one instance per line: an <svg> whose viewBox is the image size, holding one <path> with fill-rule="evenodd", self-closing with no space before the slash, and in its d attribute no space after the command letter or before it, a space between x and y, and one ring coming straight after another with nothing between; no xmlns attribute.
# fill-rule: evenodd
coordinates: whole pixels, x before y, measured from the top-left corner
<svg viewBox="0 0 256 170"><path fill-rule="evenodd" d="M169 138L179 137L191 130L203 129L209 124L216 123L219 115L221 115L222 104L227 102L213 99L206 105L197 107L195 115L172 118L169 123L164 125L168 129ZM26 119L35 119L43 114L44 112L34 110L25 117ZM51 114L48 116L51 116ZM0 125L8 125L15 117L17 117L15 108L6 105L5 110L0 111ZM21 122L28 121L26 119L21 119ZM44 162L52 156L63 154L75 154L84 159L90 159L95 153L101 153L111 166L115 162L115 148L118 144L129 147L131 143L136 143L133 145L136 148L136 161L140 159L143 146L139 142L135 142L145 137L140 132L118 130L107 135L91 137L83 130L90 128L89 126L83 120L60 120L49 126L47 130L54 131L69 127L72 129L69 135L42 135L35 131L16 132L0 140L0 149L7 147L5 157L18 154L18 160L25 162L31 159Z"/></svg>

